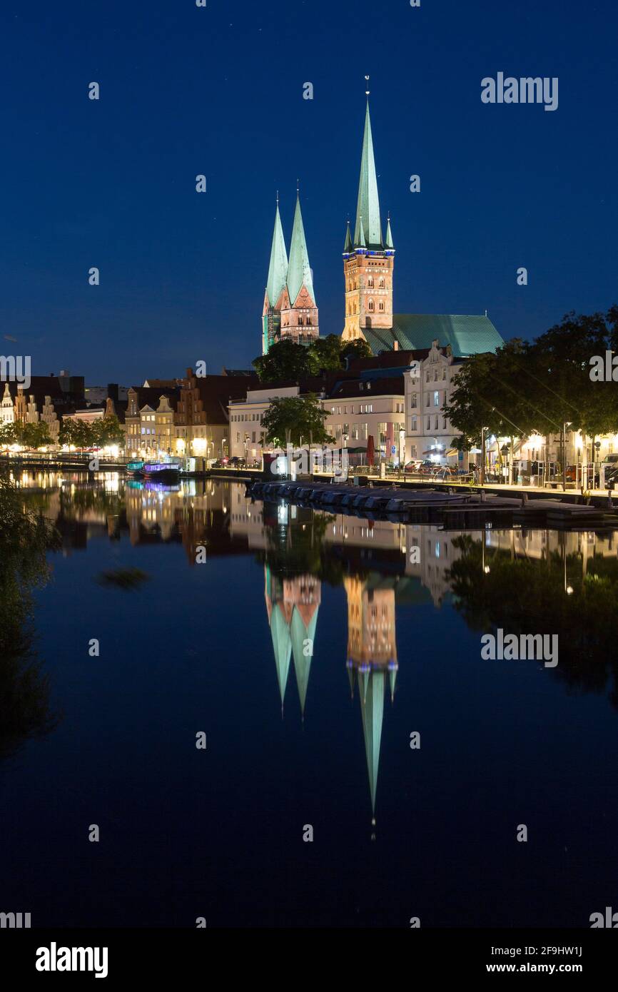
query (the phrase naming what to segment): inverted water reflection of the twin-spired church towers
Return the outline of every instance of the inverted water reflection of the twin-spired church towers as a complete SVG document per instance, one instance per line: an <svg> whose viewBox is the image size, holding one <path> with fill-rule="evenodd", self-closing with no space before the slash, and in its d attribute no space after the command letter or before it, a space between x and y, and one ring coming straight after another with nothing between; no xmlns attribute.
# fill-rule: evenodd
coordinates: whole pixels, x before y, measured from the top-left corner
<svg viewBox="0 0 618 992"><path fill-rule="evenodd" d="M264 597L273 639L281 705L283 708L292 658L301 712L305 714L321 582L315 575L309 574L279 578L273 574L269 565L265 565L264 575Z"/></svg>

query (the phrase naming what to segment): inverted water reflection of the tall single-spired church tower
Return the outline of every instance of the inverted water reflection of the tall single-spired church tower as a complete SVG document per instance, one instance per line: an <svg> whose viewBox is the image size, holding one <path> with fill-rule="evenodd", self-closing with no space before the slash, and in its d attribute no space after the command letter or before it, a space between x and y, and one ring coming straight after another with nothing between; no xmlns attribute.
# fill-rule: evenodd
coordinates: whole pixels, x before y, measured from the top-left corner
<svg viewBox="0 0 618 992"><path fill-rule="evenodd" d="M343 581L347 593L347 668L358 682L371 809L375 815L387 676L391 699L397 678L395 590L371 588L369 579Z"/></svg>

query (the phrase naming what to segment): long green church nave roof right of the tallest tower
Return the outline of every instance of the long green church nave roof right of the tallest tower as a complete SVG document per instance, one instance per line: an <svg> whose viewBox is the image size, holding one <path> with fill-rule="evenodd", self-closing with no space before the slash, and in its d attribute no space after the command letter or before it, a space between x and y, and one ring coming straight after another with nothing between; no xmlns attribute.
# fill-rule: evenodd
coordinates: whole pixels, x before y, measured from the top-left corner
<svg viewBox="0 0 618 992"><path fill-rule="evenodd" d="M504 341L487 316L459 313L394 313L393 328L362 327L374 355L392 351L395 341L400 349L431 348L437 340L447 344L455 358L495 351Z"/></svg>

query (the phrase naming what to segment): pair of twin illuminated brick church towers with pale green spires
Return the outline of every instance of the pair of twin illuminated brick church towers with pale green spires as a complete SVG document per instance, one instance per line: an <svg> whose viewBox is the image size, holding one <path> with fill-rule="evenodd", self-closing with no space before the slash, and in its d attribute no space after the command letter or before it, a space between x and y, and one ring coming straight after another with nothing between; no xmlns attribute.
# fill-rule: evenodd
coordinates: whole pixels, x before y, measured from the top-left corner
<svg viewBox="0 0 618 992"><path fill-rule="evenodd" d="M298 190L289 260L279 216L279 197L277 198L262 325L263 354L276 341L290 340L295 344L310 344L319 337L313 278Z"/></svg>

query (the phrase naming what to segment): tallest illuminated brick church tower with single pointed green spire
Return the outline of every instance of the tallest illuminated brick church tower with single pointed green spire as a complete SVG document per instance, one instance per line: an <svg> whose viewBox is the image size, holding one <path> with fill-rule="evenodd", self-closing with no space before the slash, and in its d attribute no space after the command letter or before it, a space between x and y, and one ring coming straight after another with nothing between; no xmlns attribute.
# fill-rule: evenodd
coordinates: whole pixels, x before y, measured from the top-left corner
<svg viewBox="0 0 618 992"><path fill-rule="evenodd" d="M348 221L343 248L345 326L341 336L344 341L364 337L364 327L393 326L394 264L395 248L390 217L387 220L386 237L382 236L378 180L373 156L369 99L367 99L354 236L352 237Z"/></svg>

